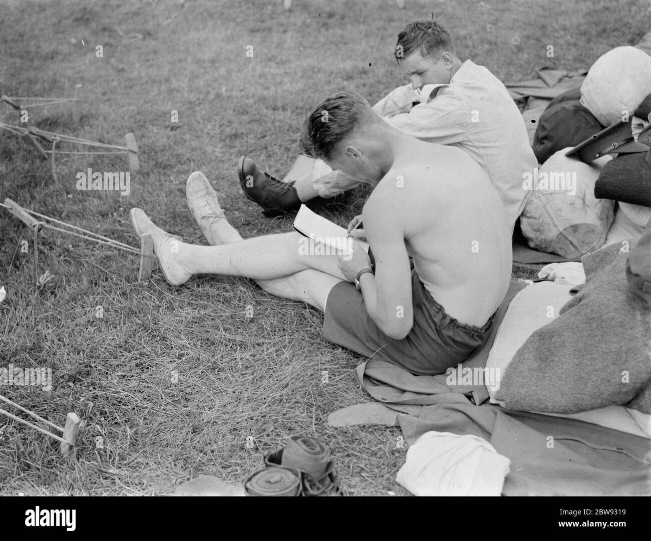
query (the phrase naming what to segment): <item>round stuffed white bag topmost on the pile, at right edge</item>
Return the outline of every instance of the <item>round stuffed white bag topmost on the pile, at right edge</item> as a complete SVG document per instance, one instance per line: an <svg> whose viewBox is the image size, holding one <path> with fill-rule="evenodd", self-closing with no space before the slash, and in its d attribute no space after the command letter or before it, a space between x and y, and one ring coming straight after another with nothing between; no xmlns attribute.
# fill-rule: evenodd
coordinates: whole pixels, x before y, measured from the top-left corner
<svg viewBox="0 0 651 541"><path fill-rule="evenodd" d="M600 56L581 85L581 105L602 126L633 113L651 94L651 57L637 47L616 47Z"/></svg>

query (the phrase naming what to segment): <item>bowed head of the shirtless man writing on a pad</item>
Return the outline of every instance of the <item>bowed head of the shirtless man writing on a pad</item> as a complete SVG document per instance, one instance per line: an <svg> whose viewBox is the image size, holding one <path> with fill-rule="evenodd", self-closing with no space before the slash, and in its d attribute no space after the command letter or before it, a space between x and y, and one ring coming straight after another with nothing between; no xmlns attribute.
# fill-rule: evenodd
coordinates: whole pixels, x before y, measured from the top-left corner
<svg viewBox="0 0 651 541"><path fill-rule="evenodd" d="M301 152L323 160L346 176L375 184L381 173L383 140L378 130L385 126L362 96L339 92L316 106L303 124Z"/></svg>

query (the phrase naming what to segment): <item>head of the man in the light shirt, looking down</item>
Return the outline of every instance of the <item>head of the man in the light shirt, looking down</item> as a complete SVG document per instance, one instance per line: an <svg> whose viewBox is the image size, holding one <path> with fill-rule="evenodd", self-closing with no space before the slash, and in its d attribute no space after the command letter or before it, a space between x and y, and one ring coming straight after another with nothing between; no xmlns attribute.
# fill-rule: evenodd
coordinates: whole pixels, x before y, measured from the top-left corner
<svg viewBox="0 0 651 541"><path fill-rule="evenodd" d="M454 61L458 62L452 36L432 20L411 21L398 34L394 55L414 90L449 83Z"/></svg>

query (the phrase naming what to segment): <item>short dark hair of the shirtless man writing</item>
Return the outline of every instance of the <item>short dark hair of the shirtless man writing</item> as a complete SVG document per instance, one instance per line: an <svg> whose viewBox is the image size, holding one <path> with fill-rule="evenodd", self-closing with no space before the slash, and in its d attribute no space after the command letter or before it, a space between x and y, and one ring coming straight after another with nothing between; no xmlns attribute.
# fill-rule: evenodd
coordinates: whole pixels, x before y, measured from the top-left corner
<svg viewBox="0 0 651 541"><path fill-rule="evenodd" d="M301 152L327 160L346 136L373 116L376 115L370 104L357 92L333 94L305 119L299 141Z"/></svg>

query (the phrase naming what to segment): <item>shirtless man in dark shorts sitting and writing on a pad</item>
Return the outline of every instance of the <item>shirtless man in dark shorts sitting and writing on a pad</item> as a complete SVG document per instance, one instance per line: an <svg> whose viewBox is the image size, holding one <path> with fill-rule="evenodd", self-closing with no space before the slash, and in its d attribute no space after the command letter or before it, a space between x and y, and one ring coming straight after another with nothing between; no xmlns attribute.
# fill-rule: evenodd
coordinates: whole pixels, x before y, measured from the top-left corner
<svg viewBox="0 0 651 541"><path fill-rule="evenodd" d="M304 255L297 232L241 240L226 219L215 219L223 215L216 195L193 173L189 206L217 245L182 243L132 210L139 236L152 234L167 281L251 278L324 312L327 340L413 374L442 374L464 361L488 337L510 281L510 223L488 174L459 148L393 128L348 92L314 109L301 150L374 187L362 213L374 270L357 240L340 255Z"/></svg>

